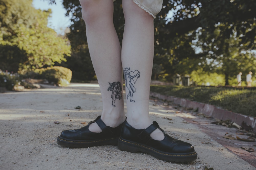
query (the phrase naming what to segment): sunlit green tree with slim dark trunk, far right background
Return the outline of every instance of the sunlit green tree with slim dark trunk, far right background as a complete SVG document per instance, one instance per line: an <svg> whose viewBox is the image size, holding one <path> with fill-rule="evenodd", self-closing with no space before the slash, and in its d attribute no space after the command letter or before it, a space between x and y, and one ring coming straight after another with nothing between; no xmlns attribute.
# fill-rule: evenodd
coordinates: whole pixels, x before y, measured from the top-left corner
<svg viewBox="0 0 256 170"><path fill-rule="evenodd" d="M241 43L242 39L236 36L235 28L233 33L225 36L226 27L225 24L216 25L215 36L207 37L206 42L210 43L204 43L202 49L208 51L205 59L209 67L212 71L225 75L225 85L229 85L229 79L240 71L249 72L248 70L256 69L256 56L246 47L250 42Z"/></svg>

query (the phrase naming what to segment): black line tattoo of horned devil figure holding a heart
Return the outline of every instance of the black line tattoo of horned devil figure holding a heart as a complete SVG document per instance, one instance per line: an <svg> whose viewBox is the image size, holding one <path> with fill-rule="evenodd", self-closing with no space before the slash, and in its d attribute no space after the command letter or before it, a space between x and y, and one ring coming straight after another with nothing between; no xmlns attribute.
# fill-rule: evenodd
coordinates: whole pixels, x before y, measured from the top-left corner
<svg viewBox="0 0 256 170"><path fill-rule="evenodd" d="M132 84L132 80L135 84L139 77L140 77L140 72L138 70L130 71L130 67L129 68L126 67L124 69L125 86L129 90L129 93L126 99L128 99L128 97L131 96L131 99L130 99L131 102L135 102L135 100L132 99L132 96L133 96L133 93L135 93L136 91L135 87Z"/></svg>

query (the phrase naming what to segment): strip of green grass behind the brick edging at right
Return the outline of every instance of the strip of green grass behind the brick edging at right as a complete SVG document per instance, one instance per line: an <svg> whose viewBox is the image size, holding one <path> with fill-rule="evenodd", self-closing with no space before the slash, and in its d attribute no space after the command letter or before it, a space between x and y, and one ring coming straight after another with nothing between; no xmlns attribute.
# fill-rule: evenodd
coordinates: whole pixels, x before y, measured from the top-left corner
<svg viewBox="0 0 256 170"><path fill-rule="evenodd" d="M150 91L207 103L232 112L256 117L255 89L152 85Z"/></svg>

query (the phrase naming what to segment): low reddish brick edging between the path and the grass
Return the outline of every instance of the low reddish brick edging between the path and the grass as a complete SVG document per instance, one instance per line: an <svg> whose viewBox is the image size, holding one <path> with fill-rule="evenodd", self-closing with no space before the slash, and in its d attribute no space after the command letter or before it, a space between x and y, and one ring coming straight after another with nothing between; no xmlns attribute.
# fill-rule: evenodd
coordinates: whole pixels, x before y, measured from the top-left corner
<svg viewBox="0 0 256 170"><path fill-rule="evenodd" d="M159 93L150 92L150 96L157 97L159 99L172 101L175 104L179 104L182 107L189 107L193 109L198 108L198 112L204 113L207 116L211 116L216 119L220 120L231 120L232 122L235 122L238 125L242 125L242 122L246 123L246 125L251 126L253 128L253 131L256 132L256 119L255 117L250 117L246 115L242 115L239 113L234 113L231 111L223 110L220 108L217 108L216 106L205 104L205 103L199 103L195 101L190 101L187 99L182 99L178 97L173 96L165 96L161 95Z"/></svg>

